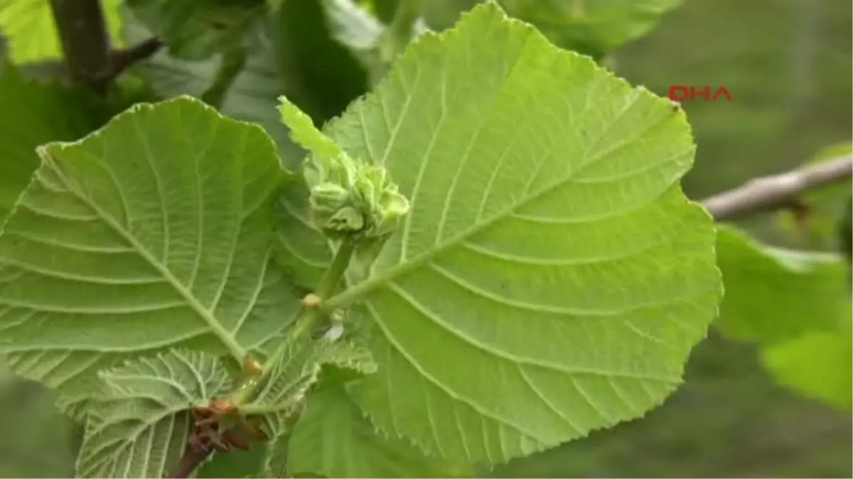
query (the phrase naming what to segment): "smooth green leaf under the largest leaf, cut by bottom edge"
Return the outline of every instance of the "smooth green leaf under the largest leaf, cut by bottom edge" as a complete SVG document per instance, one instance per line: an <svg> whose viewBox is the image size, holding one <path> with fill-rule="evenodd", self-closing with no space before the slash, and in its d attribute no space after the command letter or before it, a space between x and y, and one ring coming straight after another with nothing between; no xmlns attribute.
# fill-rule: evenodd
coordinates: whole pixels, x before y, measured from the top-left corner
<svg viewBox="0 0 853 479"><path fill-rule="evenodd" d="M339 387L309 396L289 447L292 473L328 479L462 479L402 440L384 436Z"/></svg>

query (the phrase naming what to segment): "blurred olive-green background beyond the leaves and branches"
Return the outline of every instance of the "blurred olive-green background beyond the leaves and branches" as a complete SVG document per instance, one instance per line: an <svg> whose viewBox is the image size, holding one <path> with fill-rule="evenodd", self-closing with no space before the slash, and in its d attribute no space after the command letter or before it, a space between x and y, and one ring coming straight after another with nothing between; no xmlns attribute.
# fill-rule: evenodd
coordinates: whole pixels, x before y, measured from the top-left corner
<svg viewBox="0 0 853 479"><path fill-rule="evenodd" d="M684 84L725 86L734 96L682 104L699 144L684 185L698 199L853 141L850 26L853 2L844 0L685 0L620 49L613 66L659 95ZM773 217L744 226L791 242ZM0 479L73 477L73 430L47 393L2 372L0 431ZM491 477L844 479L853 478L851 451L853 415L781 389L750 346L711 332L663 407Z"/></svg>

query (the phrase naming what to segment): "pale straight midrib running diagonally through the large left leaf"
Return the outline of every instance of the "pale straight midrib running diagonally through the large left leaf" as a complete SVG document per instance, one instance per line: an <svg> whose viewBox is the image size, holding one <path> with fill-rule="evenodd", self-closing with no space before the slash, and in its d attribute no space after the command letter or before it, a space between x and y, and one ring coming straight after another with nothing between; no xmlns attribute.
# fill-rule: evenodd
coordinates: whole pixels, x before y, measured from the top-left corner
<svg viewBox="0 0 853 479"><path fill-rule="evenodd" d="M65 176L65 172L62 171L57 166L57 160L53 157L53 155L49 152L47 148L39 150L40 156L45 160L45 164L49 166L50 169L54 170L56 176L62 182L62 185L66 188L68 193L71 193L74 197L82 201L85 205L89 206L95 214L109 226L112 228L116 234L119 234L125 241L127 241L131 248L133 248L139 256L142 257L148 264L150 264L159 274L161 274L164 280L169 283L169 285L177 291L177 293L183 297L184 300L189 304L190 309L200 316L202 320L207 323L207 326L210 326L213 334L215 334L223 343L223 345L229 349L231 355L235 357L237 361L243 361L243 358L246 356L246 349L244 349L240 343L238 343L234 337L227 329L224 328L222 323L220 323L216 317L212 314L211 311L208 311L203 304L201 304L198 299L193 296L192 291L189 291L180 280L178 280L174 274L171 274L171 271L166 268L166 266L160 261L157 260L151 253L140 244L136 238L133 237L129 232L125 231L118 222L113 220L113 218L107 215L106 211L103 211L102 208L95 204L94 201L91 201L87 196L83 193L78 193L74 188L72 188L70 182L68 182L67 177ZM116 180L115 176L113 176L113 170L109 168L105 162L102 160L98 160L97 162L99 166L101 166L110 178L115 183L116 188L118 188L119 194L122 191L119 182Z"/></svg>

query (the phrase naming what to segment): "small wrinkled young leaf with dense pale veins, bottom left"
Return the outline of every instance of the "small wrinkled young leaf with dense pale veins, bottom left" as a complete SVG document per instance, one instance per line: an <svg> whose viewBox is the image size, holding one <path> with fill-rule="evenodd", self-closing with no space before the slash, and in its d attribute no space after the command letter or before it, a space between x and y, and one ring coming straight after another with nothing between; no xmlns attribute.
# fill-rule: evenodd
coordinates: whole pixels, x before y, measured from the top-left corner
<svg viewBox="0 0 853 479"><path fill-rule="evenodd" d="M86 422L78 479L162 479L181 458L189 408L226 394L218 358L172 349L99 374L104 387Z"/></svg>

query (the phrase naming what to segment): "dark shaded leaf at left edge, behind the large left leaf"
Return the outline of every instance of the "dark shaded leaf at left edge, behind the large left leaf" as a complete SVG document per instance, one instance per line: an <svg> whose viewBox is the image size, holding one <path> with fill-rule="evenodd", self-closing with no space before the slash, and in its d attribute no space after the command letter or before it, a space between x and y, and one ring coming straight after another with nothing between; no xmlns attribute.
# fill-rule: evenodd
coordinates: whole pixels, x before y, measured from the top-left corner
<svg viewBox="0 0 853 479"><path fill-rule="evenodd" d="M38 167L36 147L68 141L98 124L90 95L58 84L39 84L15 66L0 64L0 223Z"/></svg>

